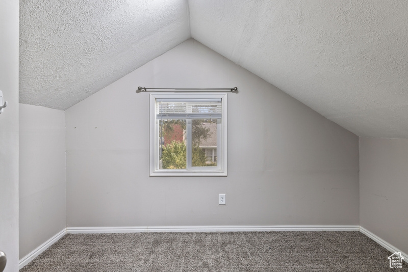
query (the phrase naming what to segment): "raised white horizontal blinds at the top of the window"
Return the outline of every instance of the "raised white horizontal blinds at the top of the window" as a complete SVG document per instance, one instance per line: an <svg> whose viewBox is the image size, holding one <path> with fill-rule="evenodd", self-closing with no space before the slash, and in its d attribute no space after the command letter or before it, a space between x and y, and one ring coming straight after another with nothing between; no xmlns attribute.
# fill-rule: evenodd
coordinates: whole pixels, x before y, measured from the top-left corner
<svg viewBox="0 0 408 272"><path fill-rule="evenodd" d="M218 119L221 98L156 99L157 119Z"/></svg>

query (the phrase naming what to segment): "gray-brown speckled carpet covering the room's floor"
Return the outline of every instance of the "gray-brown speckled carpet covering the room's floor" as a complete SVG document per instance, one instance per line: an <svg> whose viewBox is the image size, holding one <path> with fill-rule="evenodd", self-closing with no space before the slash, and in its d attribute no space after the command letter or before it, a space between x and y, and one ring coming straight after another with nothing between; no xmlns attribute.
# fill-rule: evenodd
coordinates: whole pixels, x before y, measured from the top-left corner
<svg viewBox="0 0 408 272"><path fill-rule="evenodd" d="M67 234L20 272L392 271L390 255L351 231Z"/></svg>

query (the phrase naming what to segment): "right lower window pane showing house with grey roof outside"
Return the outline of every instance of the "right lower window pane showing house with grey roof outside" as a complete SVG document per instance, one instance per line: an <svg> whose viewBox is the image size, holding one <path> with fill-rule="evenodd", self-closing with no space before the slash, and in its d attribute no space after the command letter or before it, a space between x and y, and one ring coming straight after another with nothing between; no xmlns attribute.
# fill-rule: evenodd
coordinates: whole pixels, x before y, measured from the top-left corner
<svg viewBox="0 0 408 272"><path fill-rule="evenodd" d="M217 119L191 120L191 165L217 166Z"/></svg>

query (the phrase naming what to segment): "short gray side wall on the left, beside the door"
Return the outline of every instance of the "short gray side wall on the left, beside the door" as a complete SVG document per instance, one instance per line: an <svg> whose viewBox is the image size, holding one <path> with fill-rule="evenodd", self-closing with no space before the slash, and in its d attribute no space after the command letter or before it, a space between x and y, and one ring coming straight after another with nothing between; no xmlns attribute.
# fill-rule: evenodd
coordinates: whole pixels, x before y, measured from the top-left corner
<svg viewBox="0 0 408 272"><path fill-rule="evenodd" d="M65 113L20 104L19 258L66 227Z"/></svg>

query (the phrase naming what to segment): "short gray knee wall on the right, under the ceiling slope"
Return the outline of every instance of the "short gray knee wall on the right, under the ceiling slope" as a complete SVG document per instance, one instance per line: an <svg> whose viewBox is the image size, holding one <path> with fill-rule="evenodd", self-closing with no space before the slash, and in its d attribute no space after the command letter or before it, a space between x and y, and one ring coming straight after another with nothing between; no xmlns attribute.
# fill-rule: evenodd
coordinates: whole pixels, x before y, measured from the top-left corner
<svg viewBox="0 0 408 272"><path fill-rule="evenodd" d="M408 140L360 138L360 225L408 253Z"/></svg>

